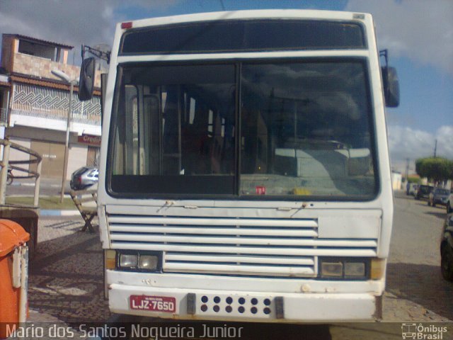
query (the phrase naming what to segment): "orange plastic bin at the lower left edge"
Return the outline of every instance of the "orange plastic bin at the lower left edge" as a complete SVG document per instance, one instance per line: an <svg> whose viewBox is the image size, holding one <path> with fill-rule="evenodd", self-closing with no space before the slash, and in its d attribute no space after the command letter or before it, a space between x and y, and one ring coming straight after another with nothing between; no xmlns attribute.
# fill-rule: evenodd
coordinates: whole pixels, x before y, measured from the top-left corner
<svg viewBox="0 0 453 340"><path fill-rule="evenodd" d="M0 220L0 339L11 336L8 329L19 322L21 276L28 273L21 272L17 262L22 256L17 250L29 239L30 234L16 222Z"/></svg>

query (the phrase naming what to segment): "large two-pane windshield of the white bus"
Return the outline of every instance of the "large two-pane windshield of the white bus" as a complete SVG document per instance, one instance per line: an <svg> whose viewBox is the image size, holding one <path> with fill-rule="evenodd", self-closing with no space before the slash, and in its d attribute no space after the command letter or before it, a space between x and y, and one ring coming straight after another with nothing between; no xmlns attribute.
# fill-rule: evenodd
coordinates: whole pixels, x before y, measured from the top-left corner
<svg viewBox="0 0 453 340"><path fill-rule="evenodd" d="M142 62L117 77L113 196L377 194L365 60Z"/></svg>

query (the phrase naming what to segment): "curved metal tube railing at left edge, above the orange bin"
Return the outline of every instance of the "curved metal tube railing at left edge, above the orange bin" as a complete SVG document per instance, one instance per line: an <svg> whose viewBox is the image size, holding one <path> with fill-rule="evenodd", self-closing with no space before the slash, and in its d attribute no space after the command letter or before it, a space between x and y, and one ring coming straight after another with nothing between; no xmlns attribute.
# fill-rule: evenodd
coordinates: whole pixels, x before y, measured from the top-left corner
<svg viewBox="0 0 453 340"><path fill-rule="evenodd" d="M4 205L6 201L6 180L8 178L8 169L16 170L25 173L23 176L14 176L14 179L35 179L35 193L33 195L33 206L38 207L40 198L40 181L41 181L41 166L42 157L38 152L10 142L9 140L1 140L0 145L3 146L3 157L1 157L0 166L0 205ZM10 161L9 154L11 148L16 149L28 155L29 159ZM26 169L25 164L37 164L36 171Z"/></svg>

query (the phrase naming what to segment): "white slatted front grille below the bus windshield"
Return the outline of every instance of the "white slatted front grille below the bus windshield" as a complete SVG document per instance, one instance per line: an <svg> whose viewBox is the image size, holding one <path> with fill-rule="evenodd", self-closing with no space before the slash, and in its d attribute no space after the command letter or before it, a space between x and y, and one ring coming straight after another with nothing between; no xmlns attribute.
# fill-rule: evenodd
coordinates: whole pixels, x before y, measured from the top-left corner
<svg viewBox="0 0 453 340"><path fill-rule="evenodd" d="M164 272L314 277L318 257L376 256L376 239L320 239L314 219L109 215L113 249L162 251Z"/></svg>

